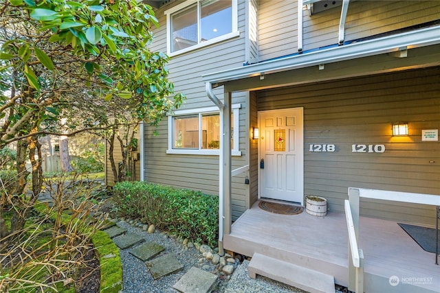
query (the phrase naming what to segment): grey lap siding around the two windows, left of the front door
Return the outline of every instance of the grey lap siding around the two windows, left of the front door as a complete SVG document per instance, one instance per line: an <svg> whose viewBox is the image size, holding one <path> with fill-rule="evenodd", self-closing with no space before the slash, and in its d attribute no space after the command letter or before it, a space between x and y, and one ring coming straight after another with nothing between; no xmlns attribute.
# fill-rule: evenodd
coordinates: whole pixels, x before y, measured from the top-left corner
<svg viewBox="0 0 440 293"><path fill-rule="evenodd" d="M151 48L166 52L166 16L164 11L175 3L165 5L156 11L160 27L154 30L155 40ZM203 47L186 54L173 56L168 63L169 80L175 86L175 92L186 95L186 101L181 109L197 109L214 106L206 94L205 84L201 75L221 71L243 65L244 57L244 13L245 2L239 1L239 31L240 36L225 40L222 43ZM214 94L223 99L223 87L214 89ZM232 157L232 169L242 167L246 161L248 129L246 117L248 107L246 93L234 93L232 104L240 103L240 150L242 156ZM158 130L157 136L153 131ZM200 190L206 194L219 194L219 156L166 154L168 148L168 122L164 118L159 128L145 127L144 160L145 180L174 187ZM237 218L245 211L245 198L248 196L244 185L244 174L232 178L232 217Z"/></svg>

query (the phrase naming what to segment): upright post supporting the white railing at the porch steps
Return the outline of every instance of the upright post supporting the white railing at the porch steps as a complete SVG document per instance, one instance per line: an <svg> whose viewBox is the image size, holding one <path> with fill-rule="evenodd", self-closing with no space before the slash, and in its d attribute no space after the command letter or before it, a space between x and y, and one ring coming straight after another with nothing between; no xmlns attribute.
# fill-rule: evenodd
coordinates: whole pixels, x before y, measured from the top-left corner
<svg viewBox="0 0 440 293"><path fill-rule="evenodd" d="M353 217L353 227L355 229L356 243L359 244L359 206L360 206L359 189L349 187L349 201L351 207L351 215ZM362 257L362 262L363 262L363 257ZM359 269L353 266L353 259L351 257L351 248L349 245L349 290L353 292L358 292L356 291L356 289L360 287L359 286L360 284L358 284L358 280L357 280L358 278L356 277L356 272L358 272L358 274L360 273ZM363 273L363 263L362 263L362 273Z"/></svg>

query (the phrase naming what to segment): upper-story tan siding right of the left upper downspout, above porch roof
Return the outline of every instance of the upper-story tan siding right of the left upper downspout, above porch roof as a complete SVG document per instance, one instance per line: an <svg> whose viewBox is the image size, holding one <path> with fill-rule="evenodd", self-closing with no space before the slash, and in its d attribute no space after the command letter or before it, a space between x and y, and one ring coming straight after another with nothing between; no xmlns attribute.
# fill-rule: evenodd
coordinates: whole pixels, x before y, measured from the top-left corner
<svg viewBox="0 0 440 293"><path fill-rule="evenodd" d="M304 49L338 44L341 9L309 15L303 10ZM440 1L350 1L344 40L376 34L440 19Z"/></svg>

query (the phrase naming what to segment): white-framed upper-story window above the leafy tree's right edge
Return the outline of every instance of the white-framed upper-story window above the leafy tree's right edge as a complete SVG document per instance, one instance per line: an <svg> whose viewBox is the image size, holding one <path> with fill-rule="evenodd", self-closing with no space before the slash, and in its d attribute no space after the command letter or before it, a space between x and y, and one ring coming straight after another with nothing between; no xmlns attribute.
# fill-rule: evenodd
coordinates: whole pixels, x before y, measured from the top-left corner
<svg viewBox="0 0 440 293"><path fill-rule="evenodd" d="M236 0L187 0L165 14L170 56L239 36Z"/></svg>

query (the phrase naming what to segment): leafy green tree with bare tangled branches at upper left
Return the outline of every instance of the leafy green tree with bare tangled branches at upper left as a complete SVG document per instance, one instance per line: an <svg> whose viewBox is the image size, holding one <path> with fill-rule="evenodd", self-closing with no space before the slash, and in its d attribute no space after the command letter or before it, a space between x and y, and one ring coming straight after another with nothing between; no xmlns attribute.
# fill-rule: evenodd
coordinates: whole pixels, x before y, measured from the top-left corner
<svg viewBox="0 0 440 293"><path fill-rule="evenodd" d="M17 142L19 174L9 197L17 207L12 231L23 227L41 191L39 136L108 129L118 123L109 114L118 110L106 111L118 106L154 125L181 105L184 96L173 95L167 79L168 57L148 48L151 25L157 25L152 8L135 0L0 4L0 150ZM61 129L69 113L82 119ZM32 192L21 196L29 174Z"/></svg>

